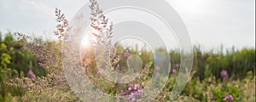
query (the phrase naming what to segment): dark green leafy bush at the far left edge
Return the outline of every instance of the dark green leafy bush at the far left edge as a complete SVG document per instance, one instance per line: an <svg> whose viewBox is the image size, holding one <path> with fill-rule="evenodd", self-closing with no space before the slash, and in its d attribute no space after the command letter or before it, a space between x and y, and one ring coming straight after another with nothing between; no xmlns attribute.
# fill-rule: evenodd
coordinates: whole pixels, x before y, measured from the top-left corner
<svg viewBox="0 0 256 102"><path fill-rule="evenodd" d="M18 73L25 73L27 76L27 72L32 70L38 76L45 76L46 71L38 65L38 60L32 54L31 50L27 48L23 48L23 45L15 40L11 33L5 34L3 41L1 42L6 45L6 49L2 51L2 53L9 54L11 57L10 63L8 65L9 68L17 71Z"/></svg>

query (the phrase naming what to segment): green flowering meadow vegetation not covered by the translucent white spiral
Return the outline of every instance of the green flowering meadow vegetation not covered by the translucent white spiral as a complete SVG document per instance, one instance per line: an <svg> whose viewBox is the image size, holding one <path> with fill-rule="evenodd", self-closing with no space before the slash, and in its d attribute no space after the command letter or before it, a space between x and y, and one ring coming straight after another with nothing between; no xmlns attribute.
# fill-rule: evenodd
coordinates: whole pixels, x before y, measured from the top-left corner
<svg viewBox="0 0 256 102"><path fill-rule="evenodd" d="M69 88L63 74L61 42L45 42L40 38L28 42L24 40L25 37L18 40L13 36L9 33L1 36L0 40L1 101L80 101ZM255 101L255 49L218 49L202 52L199 46L194 48L191 78L176 101ZM136 54L137 51L129 50L129 53ZM124 66L125 57L129 54L124 48L119 48L117 54L120 55L119 65ZM143 52L142 57L146 59L149 54ZM165 88L154 101L170 100L168 92L172 90L177 77L180 54L173 50L169 55L172 58L172 71ZM130 94L129 88L134 83L143 89L155 70L154 62L150 59L143 61L143 76L133 83L118 84L104 80L97 73L93 61L87 65L87 69L84 67L84 71L103 92Z"/></svg>

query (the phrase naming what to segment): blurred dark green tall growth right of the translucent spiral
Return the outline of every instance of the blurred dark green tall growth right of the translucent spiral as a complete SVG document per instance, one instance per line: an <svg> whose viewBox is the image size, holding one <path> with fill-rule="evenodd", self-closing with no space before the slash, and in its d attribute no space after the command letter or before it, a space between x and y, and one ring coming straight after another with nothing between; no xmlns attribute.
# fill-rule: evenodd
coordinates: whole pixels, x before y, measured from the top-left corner
<svg viewBox="0 0 256 102"><path fill-rule="evenodd" d="M195 77L210 77L214 75L221 78L220 72L228 71L228 76L234 79L242 79L246 77L247 71L255 73L255 49L242 48L240 50L213 50L202 52L200 47L195 47ZM204 74L202 74L204 73Z"/></svg>

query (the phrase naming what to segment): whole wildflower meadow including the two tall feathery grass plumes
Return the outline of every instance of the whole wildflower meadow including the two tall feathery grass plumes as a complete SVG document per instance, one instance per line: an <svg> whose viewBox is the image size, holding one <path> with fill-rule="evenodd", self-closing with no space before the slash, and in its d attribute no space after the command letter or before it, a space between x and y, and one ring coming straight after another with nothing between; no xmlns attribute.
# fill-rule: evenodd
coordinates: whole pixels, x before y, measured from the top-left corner
<svg viewBox="0 0 256 102"><path fill-rule="evenodd" d="M117 96L118 99L105 100L95 99L91 101L144 101L143 94L150 83L152 77L156 85L163 85L161 82L165 80L166 84L163 89L157 90L160 94L153 98L154 102L163 101L216 101L216 102L254 102L255 101L255 48L212 48L204 50L200 45L193 47L193 70L186 81L186 86L177 99L169 98L170 91L177 81L178 74L181 73L181 52L179 49L167 51L167 56L172 60L168 65L170 73L167 77L163 77L160 73L154 71L163 71L163 67L155 64L154 53L148 48L137 47L127 48L123 45L114 45L108 57L110 64L103 60L101 65L109 66L106 70L118 71L125 73L126 71L137 71L131 69L127 63L137 63L142 66L138 77L132 82L112 82L102 76L99 72L99 65L96 60L104 58L106 52L96 54L95 44L102 44L103 47L111 45L113 24L103 15L102 9L95 0L90 0L90 20L91 27L97 32L92 35L96 41L92 41L90 46L81 53L81 59L68 57L63 59L63 54L70 53L72 50L65 50L62 42L67 42L70 35L68 20L61 10L56 8L56 31L55 36L59 39L56 41L43 40L40 37L29 37L19 32L0 33L0 102L24 101L24 102L77 102L85 101L75 94L73 88L70 87L63 65L65 61L77 61L81 72L89 77L90 82L109 96ZM71 42L72 45L72 42ZM68 48L67 48L68 49ZM165 48L156 49L164 52ZM107 50L108 51L108 50ZM141 60L135 59L133 54L138 54ZM67 57L67 56L65 56ZM107 60L108 61L108 60ZM131 75L135 76L135 75ZM82 81L81 81L82 82ZM78 83L79 84L79 83ZM178 86L178 85L177 85ZM83 88L86 90L86 88ZM86 97L91 97L90 92L86 90ZM99 94L100 95L100 94ZM85 96L84 96L85 97ZM100 97L100 96L96 96ZM148 96L149 98L149 96ZM93 98L92 98L93 99Z"/></svg>

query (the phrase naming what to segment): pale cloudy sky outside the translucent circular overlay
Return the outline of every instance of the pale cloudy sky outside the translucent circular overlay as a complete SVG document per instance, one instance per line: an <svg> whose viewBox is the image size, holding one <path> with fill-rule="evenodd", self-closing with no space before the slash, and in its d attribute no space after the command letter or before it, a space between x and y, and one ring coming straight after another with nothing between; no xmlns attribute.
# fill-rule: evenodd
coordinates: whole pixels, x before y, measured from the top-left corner
<svg viewBox="0 0 256 102"><path fill-rule="evenodd" d="M193 44L203 48L254 48L254 0L168 0L182 17ZM87 0L0 0L0 31L53 39L55 8L72 19ZM44 36L44 34L46 36Z"/></svg>

